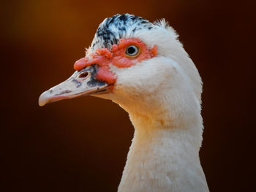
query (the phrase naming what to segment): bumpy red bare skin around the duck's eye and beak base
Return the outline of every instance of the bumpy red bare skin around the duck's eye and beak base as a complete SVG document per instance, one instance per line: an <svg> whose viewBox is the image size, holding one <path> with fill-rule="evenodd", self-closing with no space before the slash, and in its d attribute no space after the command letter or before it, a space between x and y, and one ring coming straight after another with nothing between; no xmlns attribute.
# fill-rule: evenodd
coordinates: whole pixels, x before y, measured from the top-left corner
<svg viewBox="0 0 256 192"><path fill-rule="evenodd" d="M131 57L125 53L126 48L129 45L135 45L139 48L139 53L135 55L135 57ZM110 64L120 68L126 68L145 59L153 58L155 55L157 55L157 45L148 49L146 44L140 39L120 39L118 45L112 45L111 50L108 50L107 48L97 49L95 53L91 54L91 57L93 58L91 60L88 58L80 58L75 62L74 69L80 71L85 66L97 64L99 69L97 74L95 74L95 78L99 81L108 82L111 85L116 82L116 76L113 72L110 72Z"/></svg>

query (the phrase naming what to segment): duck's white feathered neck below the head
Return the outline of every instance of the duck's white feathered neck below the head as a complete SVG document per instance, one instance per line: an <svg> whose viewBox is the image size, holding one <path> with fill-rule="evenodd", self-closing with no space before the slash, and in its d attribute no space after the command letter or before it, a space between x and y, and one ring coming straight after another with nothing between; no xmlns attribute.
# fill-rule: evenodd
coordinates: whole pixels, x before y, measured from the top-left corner
<svg viewBox="0 0 256 192"><path fill-rule="evenodd" d="M202 123L174 124L129 112L135 135L119 192L208 191L200 166ZM167 123L166 123L167 122Z"/></svg>

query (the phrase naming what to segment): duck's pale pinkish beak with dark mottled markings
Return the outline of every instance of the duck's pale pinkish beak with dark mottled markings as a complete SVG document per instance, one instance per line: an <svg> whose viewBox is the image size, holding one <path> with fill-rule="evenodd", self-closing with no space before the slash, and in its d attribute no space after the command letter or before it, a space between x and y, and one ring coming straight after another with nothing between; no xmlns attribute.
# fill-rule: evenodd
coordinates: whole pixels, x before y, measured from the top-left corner
<svg viewBox="0 0 256 192"><path fill-rule="evenodd" d="M108 82L94 79L94 74L96 73L97 66L95 64L86 66L79 72L76 71L69 79L42 93L39 96L39 106L62 99L108 92L111 85Z"/></svg>

